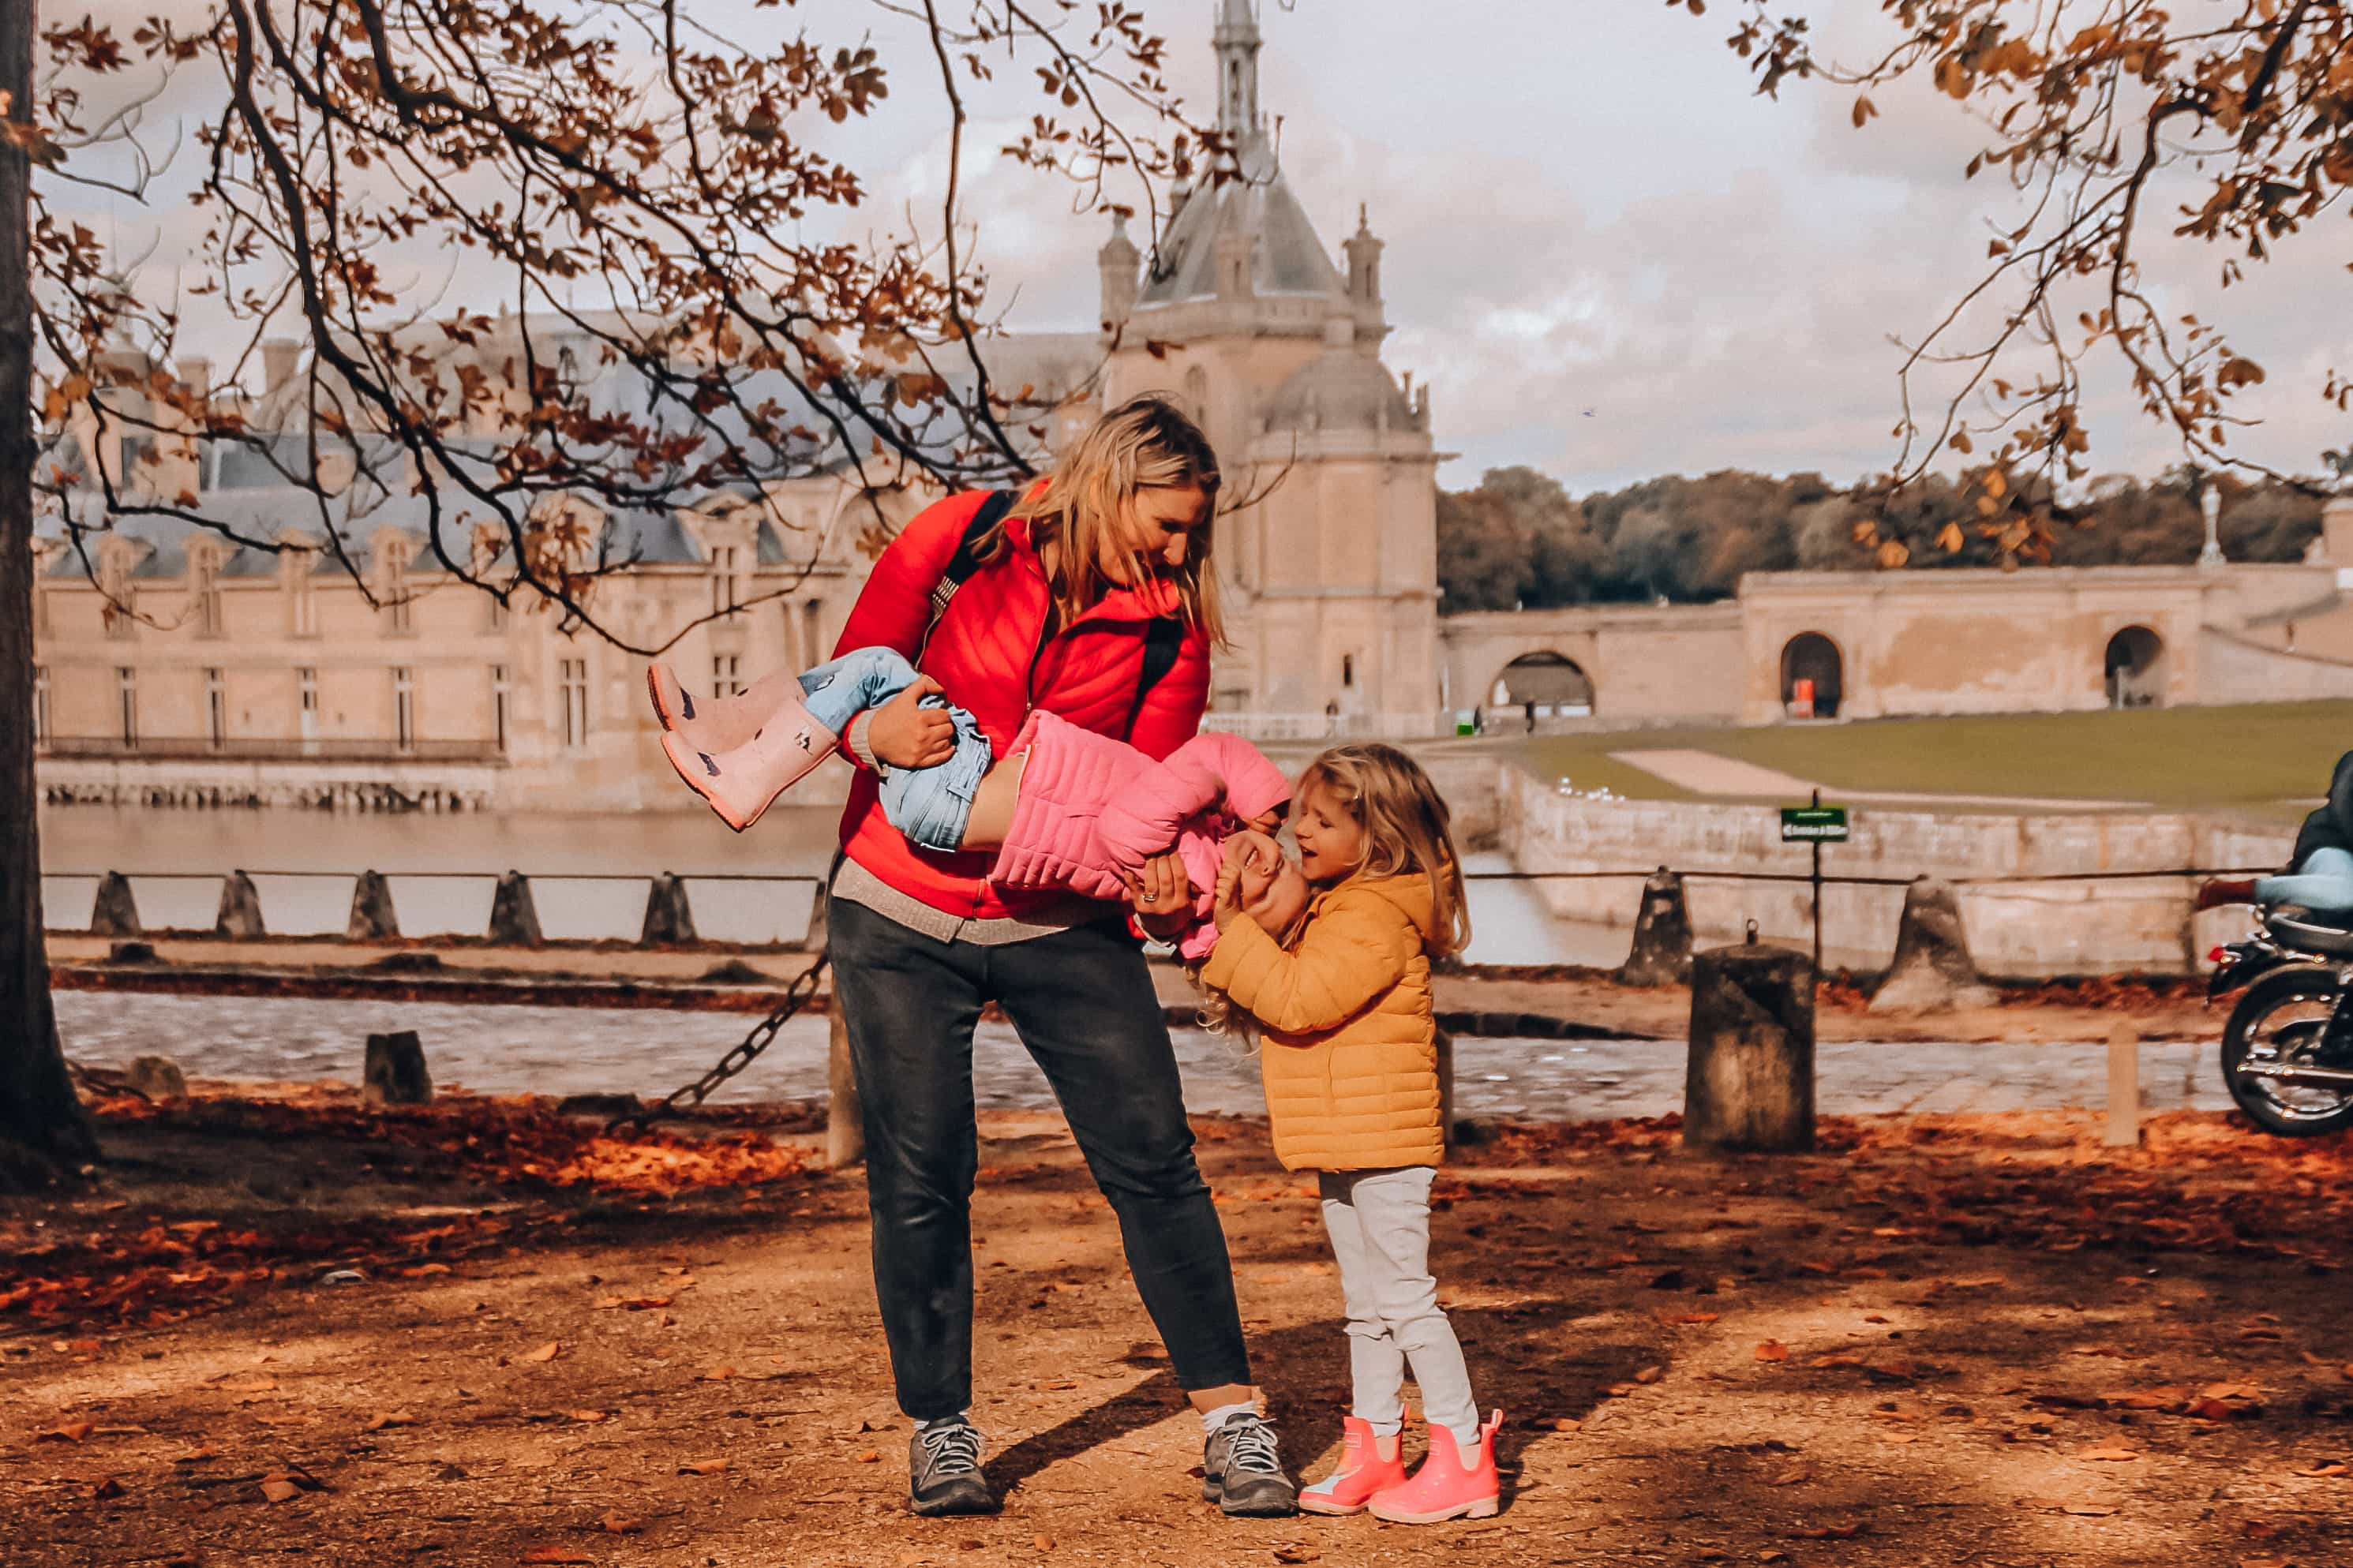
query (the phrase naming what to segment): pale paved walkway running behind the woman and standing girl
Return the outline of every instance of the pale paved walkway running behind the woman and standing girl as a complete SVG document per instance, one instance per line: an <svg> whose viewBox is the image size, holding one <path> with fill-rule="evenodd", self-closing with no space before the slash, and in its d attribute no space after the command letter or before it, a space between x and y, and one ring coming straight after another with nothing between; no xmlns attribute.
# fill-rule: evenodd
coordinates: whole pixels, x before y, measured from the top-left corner
<svg viewBox="0 0 2353 1568"><path fill-rule="evenodd" d="M751 1020L725 1013L605 1013L593 1009L445 1006L402 1001L266 1001L59 992L66 1051L129 1065L160 1051L195 1077L360 1081L369 1032L416 1030L433 1081L485 1093L664 1093L708 1067ZM816 1100L826 1093L826 1020L786 1025L769 1053L722 1100ZM1259 1065L1233 1041L1176 1032L1186 1103L1207 1114L1266 1112ZM1593 1121L1682 1107L1680 1041L1461 1039L1459 1114ZM2097 1110L2108 1098L2101 1044L1824 1041L1817 1103L1833 1114ZM2212 1041L2141 1048L2146 1110L2221 1110L2228 1095ZM984 1110L1049 1110L1038 1067L1005 1025L974 1041Z"/></svg>

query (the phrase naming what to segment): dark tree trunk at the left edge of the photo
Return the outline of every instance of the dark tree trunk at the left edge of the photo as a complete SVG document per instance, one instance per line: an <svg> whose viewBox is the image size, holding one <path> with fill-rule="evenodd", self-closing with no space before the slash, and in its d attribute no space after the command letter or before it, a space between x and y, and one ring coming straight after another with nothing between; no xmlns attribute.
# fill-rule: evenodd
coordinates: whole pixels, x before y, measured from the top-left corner
<svg viewBox="0 0 2353 1568"><path fill-rule="evenodd" d="M33 5L0 5L0 92L31 120ZM0 1185L96 1154L49 1006L33 790L31 165L0 139ZM14 715L14 717L7 717ZM12 1147L14 1145L14 1147Z"/></svg>

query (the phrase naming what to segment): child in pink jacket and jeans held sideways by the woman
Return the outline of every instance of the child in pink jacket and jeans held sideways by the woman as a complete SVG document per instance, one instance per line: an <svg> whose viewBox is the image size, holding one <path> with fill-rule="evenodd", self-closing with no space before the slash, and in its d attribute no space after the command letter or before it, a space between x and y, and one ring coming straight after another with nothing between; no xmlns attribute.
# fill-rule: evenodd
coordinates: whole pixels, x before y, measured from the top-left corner
<svg viewBox="0 0 2353 1568"><path fill-rule="evenodd" d="M854 649L805 675L772 675L748 691L696 703L668 665L647 672L661 750L720 818L744 832L784 790L840 748L849 719L915 684L894 649ZM932 696L925 703L941 703ZM1292 785L1240 736L1193 736L1165 762L1125 741L1031 712L1002 759L969 712L948 710L955 752L929 769L880 769L882 813L911 844L995 849L988 879L1007 889L1068 889L1122 898L1125 879L1174 849L1193 884L1186 959L1217 945L1212 896L1238 827L1273 832Z"/></svg>

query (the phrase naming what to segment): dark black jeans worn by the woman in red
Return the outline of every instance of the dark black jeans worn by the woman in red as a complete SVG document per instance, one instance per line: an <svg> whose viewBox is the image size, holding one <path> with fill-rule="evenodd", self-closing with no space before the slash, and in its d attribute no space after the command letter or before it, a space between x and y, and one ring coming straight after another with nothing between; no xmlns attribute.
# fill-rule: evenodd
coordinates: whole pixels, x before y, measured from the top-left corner
<svg viewBox="0 0 2353 1568"><path fill-rule="evenodd" d="M899 1408L936 1420L972 1406L972 1025L986 1001L1054 1086L1179 1387L1249 1382L1226 1229L1193 1164L1176 1051L1134 938L1113 919L976 947L856 903L828 919Z"/></svg>

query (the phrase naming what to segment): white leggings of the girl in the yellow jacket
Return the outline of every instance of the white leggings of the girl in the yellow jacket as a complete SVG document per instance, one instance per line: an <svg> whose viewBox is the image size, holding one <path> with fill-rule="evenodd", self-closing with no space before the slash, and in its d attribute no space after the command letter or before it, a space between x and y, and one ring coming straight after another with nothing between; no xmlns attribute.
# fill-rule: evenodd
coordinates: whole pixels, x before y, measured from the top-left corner
<svg viewBox="0 0 2353 1568"><path fill-rule="evenodd" d="M1325 1229L1348 1302L1348 1371L1355 1418L1381 1436L1405 1425L1405 1366L1421 1385L1421 1413L1454 1441L1478 1441L1478 1401L1454 1324L1431 1279L1431 1166L1322 1171Z"/></svg>

